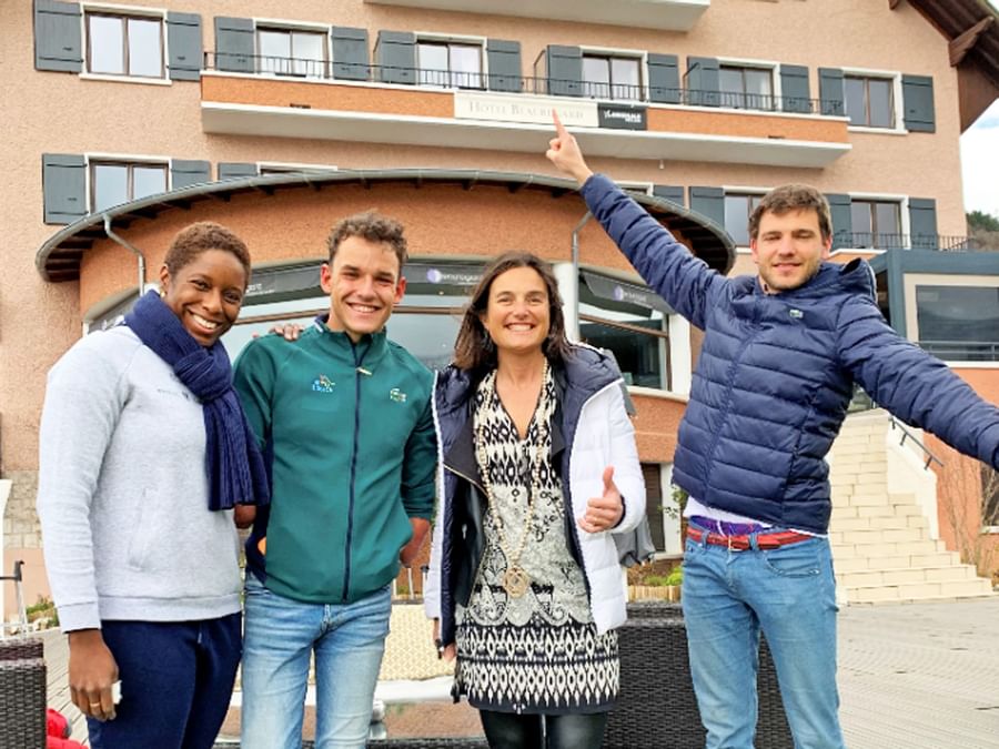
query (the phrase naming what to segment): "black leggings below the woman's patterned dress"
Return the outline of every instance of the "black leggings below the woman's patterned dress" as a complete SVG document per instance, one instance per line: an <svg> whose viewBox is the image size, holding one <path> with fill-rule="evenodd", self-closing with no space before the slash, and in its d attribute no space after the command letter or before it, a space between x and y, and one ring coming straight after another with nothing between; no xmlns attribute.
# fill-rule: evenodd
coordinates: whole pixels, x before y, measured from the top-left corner
<svg viewBox="0 0 999 749"><path fill-rule="evenodd" d="M516 715L480 710L490 749L601 749L606 712Z"/></svg>

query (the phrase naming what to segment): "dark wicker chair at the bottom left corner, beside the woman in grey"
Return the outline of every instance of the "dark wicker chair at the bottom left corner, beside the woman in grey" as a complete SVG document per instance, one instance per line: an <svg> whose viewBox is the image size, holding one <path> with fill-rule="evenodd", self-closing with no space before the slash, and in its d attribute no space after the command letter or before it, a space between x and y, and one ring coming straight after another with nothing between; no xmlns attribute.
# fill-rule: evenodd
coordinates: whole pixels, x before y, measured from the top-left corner
<svg viewBox="0 0 999 749"><path fill-rule="evenodd" d="M46 746L46 661L37 638L0 639L0 749Z"/></svg>

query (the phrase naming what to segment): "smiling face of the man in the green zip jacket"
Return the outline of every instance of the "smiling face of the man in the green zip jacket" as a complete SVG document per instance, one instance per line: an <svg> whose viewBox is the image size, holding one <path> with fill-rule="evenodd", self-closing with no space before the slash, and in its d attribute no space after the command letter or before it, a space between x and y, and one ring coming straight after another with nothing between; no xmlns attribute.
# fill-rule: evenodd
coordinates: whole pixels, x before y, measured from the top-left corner
<svg viewBox="0 0 999 749"><path fill-rule="evenodd" d="M343 331L354 343L381 331L406 291L392 245L362 236L340 243L333 262L323 263L320 283L330 295L326 325Z"/></svg>

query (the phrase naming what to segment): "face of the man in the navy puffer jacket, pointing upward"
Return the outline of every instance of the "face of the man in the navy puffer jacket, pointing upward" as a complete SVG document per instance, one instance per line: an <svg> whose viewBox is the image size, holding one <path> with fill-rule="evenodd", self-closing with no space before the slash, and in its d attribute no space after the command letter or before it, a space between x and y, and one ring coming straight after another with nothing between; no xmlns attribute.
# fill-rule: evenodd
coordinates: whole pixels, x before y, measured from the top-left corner
<svg viewBox="0 0 999 749"><path fill-rule="evenodd" d="M749 240L753 260L768 293L791 291L818 273L829 256L831 239L823 239L818 213L799 209L781 214L766 212L758 234Z"/></svg>

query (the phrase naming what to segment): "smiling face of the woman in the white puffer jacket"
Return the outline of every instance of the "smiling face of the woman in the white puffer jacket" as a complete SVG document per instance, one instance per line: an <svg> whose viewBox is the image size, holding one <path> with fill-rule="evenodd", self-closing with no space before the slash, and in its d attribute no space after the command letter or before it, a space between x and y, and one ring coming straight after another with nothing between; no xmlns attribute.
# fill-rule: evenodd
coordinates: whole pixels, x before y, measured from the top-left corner
<svg viewBox="0 0 999 749"><path fill-rule="evenodd" d="M551 314L541 274L533 267L512 267L493 279L488 305L480 320L497 354L532 354L542 351Z"/></svg>

